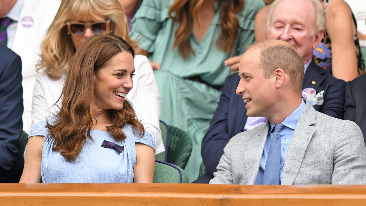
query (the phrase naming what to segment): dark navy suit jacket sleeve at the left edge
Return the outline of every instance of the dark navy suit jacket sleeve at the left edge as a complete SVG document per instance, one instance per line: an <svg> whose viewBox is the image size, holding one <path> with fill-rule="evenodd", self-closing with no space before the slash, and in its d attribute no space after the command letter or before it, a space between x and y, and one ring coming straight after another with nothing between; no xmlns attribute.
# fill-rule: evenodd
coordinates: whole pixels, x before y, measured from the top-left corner
<svg viewBox="0 0 366 206"><path fill-rule="evenodd" d="M19 182L23 122L22 60L0 45L0 182Z"/></svg>

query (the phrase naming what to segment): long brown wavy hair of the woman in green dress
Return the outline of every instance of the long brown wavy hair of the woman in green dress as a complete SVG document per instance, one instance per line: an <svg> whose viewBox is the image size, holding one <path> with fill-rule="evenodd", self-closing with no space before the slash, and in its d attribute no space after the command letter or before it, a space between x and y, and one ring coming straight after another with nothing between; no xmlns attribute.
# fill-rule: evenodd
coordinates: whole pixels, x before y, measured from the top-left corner
<svg viewBox="0 0 366 206"><path fill-rule="evenodd" d="M173 48L178 46L179 52L184 59L190 57L192 49L189 37L193 32L193 22L198 22L198 11L205 0L176 0L169 8L169 16L175 22L179 23L178 29L175 31L175 40ZM220 11L220 27L221 33L217 39L218 48L227 53L231 52L234 46L236 35L238 35L239 21L235 16L242 10L244 0L219 0ZM172 13L176 13L176 17Z"/></svg>

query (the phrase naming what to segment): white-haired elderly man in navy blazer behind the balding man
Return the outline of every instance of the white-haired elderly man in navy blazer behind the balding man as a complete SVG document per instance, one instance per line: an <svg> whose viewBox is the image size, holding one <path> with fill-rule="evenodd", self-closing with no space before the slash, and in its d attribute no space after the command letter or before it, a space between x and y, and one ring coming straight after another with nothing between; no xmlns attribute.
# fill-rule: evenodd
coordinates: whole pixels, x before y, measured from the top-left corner
<svg viewBox="0 0 366 206"><path fill-rule="evenodd" d="M270 6L268 18L269 39L288 41L300 53L305 64L300 97L307 91L324 91L324 102L313 105L316 111L343 119L345 82L336 79L312 60L312 50L323 36L324 16L318 0L276 0ZM240 57L241 58L241 57ZM240 77L228 76L221 89L220 101L210 127L203 138L201 154L206 173L195 183L208 183L216 172L220 157L230 138L266 122L264 117L248 117L242 98L235 93ZM315 94L316 94L315 93Z"/></svg>

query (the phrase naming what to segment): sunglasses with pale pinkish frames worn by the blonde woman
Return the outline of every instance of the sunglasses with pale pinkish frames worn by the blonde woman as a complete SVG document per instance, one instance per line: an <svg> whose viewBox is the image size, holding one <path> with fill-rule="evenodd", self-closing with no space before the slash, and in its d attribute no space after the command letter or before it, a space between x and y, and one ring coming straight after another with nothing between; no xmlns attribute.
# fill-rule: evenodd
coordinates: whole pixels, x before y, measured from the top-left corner
<svg viewBox="0 0 366 206"><path fill-rule="evenodd" d="M69 27L71 33L75 35L81 35L85 32L86 28L90 28L94 34L102 34L107 31L108 25L111 22L111 19L107 21L98 21L91 23L80 23L80 22L66 22Z"/></svg>

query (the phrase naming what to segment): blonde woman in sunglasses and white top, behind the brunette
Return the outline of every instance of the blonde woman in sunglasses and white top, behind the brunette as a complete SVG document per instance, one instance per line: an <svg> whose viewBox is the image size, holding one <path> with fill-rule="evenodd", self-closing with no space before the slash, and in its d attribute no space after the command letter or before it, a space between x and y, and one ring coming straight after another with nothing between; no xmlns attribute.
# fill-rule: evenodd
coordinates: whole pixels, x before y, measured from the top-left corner
<svg viewBox="0 0 366 206"><path fill-rule="evenodd" d="M68 63L76 50L91 36L114 34L140 49L127 32L127 19L117 0L63 0L55 19L42 42L42 60L37 65L33 91L32 125L54 116L59 108L54 105L60 97ZM159 128L160 95L149 61L145 56L134 58L136 76L134 89L128 95L138 120L154 139L156 153L164 151Z"/></svg>

